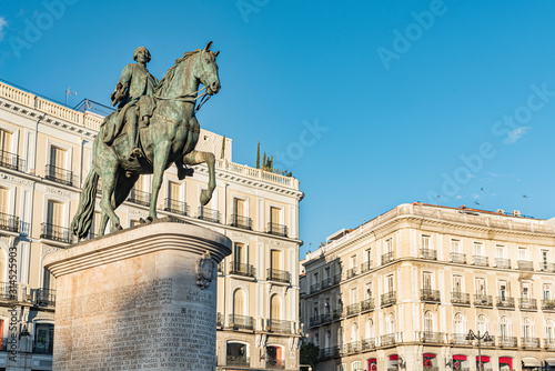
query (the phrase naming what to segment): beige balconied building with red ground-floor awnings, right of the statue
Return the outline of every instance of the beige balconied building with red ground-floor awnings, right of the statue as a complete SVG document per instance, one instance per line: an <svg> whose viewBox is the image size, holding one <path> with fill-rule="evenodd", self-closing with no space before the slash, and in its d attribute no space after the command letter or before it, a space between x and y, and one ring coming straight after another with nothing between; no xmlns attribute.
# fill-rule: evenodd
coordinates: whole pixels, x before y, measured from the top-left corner
<svg viewBox="0 0 555 371"><path fill-rule="evenodd" d="M316 370L555 369L554 225L412 203L331 235L300 283Z"/></svg>

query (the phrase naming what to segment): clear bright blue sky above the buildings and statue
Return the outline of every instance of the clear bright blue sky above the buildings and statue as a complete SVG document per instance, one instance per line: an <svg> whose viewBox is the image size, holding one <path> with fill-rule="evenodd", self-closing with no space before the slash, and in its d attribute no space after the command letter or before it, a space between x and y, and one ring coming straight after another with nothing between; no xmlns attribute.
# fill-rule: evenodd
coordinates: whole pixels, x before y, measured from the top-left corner
<svg viewBox="0 0 555 371"><path fill-rule="evenodd" d="M222 90L201 126L233 139L235 162L254 166L259 140L281 154L306 193L304 255L437 194L507 211L526 194L526 214L555 217L554 13L547 0L4 1L0 78L109 103L138 46L161 78L213 40Z"/></svg>

